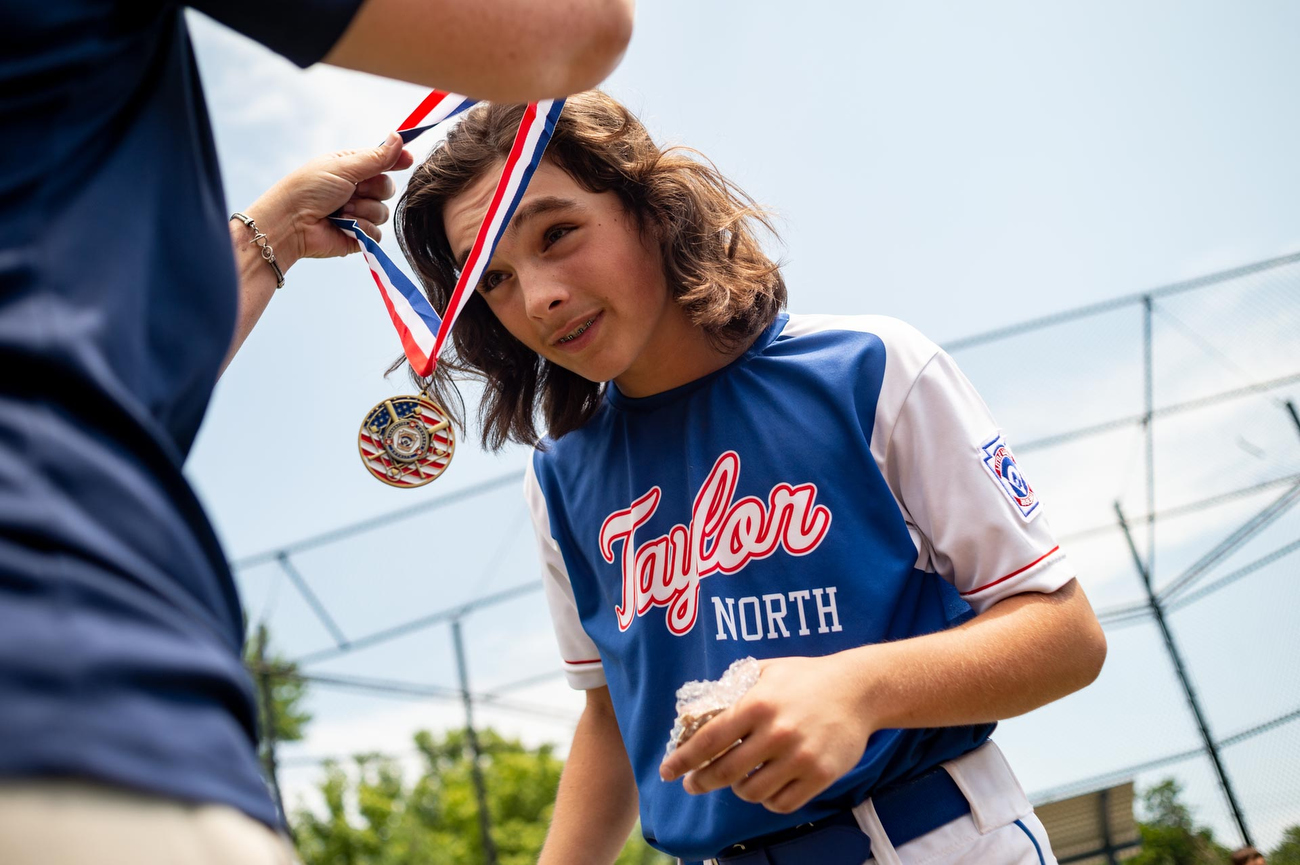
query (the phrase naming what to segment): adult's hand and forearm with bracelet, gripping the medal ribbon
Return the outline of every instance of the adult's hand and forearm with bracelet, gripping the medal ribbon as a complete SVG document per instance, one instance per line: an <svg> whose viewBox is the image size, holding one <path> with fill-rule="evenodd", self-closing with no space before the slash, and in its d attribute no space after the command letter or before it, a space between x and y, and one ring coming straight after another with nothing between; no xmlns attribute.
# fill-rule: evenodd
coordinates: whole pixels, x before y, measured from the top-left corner
<svg viewBox="0 0 1300 865"><path fill-rule="evenodd" d="M341 151L307 163L266 190L243 213L266 235L276 263L287 274L299 259L334 258L358 250L356 241L328 221L339 208L344 216L355 219L361 230L380 239L378 226L389 219L384 199L393 195L393 181L384 172L410 165L411 153L393 133L380 147ZM230 220L230 246L239 274L239 316L221 372L230 366L276 294L276 272L261 258L261 248L250 241L248 226Z"/></svg>

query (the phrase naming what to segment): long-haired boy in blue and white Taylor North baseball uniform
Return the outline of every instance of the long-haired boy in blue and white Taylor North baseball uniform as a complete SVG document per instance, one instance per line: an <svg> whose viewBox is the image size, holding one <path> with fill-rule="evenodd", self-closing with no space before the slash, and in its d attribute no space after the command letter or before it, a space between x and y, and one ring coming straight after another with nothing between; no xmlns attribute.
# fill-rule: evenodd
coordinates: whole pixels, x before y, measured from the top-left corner
<svg viewBox="0 0 1300 865"><path fill-rule="evenodd" d="M472 109L399 202L436 307L517 121ZM953 360L893 319L783 312L764 226L572 96L429 382L484 380L485 444L534 446L586 692L542 862L612 862L638 814L688 862L1054 861L989 734L1092 682L1096 617ZM676 689L746 657L757 684L664 757Z"/></svg>

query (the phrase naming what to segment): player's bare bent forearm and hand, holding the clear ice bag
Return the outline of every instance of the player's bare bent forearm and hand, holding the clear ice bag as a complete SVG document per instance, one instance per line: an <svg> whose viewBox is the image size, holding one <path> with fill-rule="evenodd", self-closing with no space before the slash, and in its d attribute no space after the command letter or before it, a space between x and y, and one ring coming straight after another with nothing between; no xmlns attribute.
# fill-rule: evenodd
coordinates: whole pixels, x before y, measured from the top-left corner
<svg viewBox="0 0 1300 865"><path fill-rule="evenodd" d="M690 793L731 786L789 813L853 769L876 730L1023 714L1091 683L1105 654L1101 626L1070 580L1008 597L950 631L767 661L758 684L664 760L662 775L685 774Z"/></svg>

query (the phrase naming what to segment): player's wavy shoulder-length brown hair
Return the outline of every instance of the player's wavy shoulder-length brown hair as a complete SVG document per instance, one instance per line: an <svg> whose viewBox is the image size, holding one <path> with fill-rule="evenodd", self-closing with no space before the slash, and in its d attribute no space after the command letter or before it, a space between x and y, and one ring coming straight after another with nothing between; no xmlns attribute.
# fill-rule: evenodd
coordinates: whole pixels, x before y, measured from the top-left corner
<svg viewBox="0 0 1300 865"><path fill-rule="evenodd" d="M480 104L416 168L398 200L398 242L438 310L459 267L443 229L447 202L504 161L523 105ZM599 91L569 96L546 150L582 189L614 193L641 232L659 241L673 299L720 350L749 342L785 306L779 265L755 229L775 237L767 216L696 151L660 148L627 108ZM585 424L604 385L552 364L516 341L477 293L451 333L452 353L433 381L415 376L464 427L456 380L484 382L478 406L484 446L536 445L538 414L554 438ZM398 360L390 369L400 368Z"/></svg>

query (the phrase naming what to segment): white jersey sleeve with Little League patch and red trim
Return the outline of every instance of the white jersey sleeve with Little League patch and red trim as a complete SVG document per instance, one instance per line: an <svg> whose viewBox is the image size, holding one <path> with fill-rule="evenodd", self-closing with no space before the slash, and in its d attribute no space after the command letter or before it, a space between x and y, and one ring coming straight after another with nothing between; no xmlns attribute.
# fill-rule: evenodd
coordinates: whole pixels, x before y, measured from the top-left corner
<svg viewBox="0 0 1300 865"><path fill-rule="evenodd" d="M885 377L871 451L933 570L983 613L1075 572L1002 431L956 362L911 326L879 320Z"/></svg>

